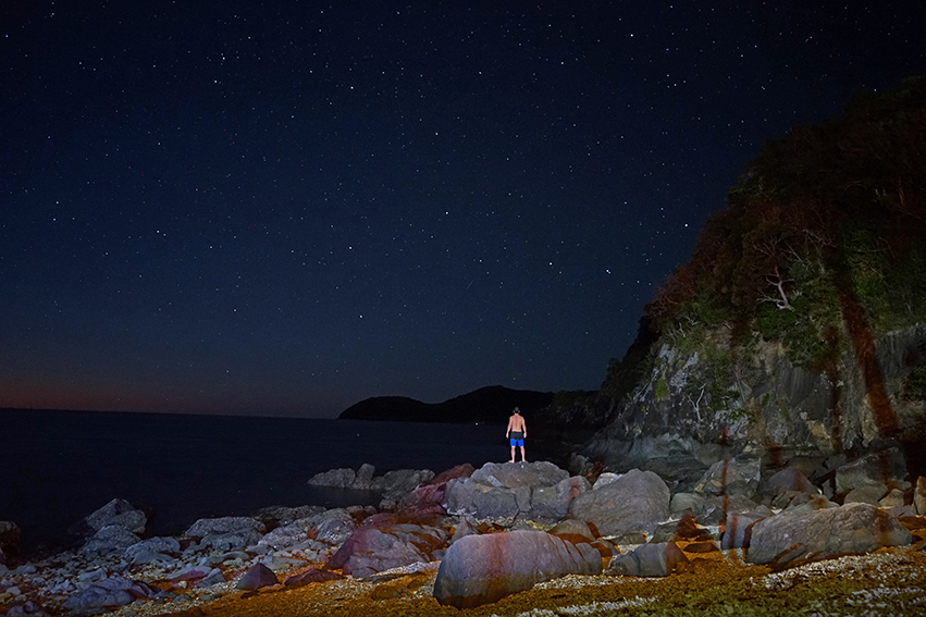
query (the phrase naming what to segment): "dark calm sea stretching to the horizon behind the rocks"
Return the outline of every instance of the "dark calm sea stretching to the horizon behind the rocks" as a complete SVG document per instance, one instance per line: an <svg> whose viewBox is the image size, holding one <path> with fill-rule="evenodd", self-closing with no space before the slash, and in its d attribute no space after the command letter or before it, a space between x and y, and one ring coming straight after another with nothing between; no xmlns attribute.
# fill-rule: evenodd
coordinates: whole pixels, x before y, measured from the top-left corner
<svg viewBox="0 0 926 617"><path fill-rule="evenodd" d="M148 535L177 535L202 517L362 502L306 484L332 468L441 472L508 457L492 424L3 410L0 427L0 520L23 529L27 550L73 542L66 529L114 497L152 513Z"/></svg>

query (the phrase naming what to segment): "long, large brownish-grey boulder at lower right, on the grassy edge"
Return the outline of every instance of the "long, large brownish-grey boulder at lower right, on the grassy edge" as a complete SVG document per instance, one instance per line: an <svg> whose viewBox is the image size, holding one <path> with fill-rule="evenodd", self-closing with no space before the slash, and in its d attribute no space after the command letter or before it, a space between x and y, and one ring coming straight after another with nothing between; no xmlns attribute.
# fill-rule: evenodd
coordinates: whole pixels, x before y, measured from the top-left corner
<svg viewBox="0 0 926 617"><path fill-rule="evenodd" d="M752 527L746 560L775 565L869 553L910 544L912 535L887 513L848 504L812 513L781 513Z"/></svg>

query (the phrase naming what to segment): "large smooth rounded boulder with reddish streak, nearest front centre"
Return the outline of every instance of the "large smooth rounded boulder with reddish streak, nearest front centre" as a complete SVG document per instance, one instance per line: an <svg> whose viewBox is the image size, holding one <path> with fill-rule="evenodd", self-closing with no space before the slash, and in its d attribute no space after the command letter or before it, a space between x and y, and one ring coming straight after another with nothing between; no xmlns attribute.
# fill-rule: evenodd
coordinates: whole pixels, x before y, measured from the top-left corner
<svg viewBox="0 0 926 617"><path fill-rule="evenodd" d="M566 575L596 575L601 555L543 531L467 535L444 555L434 581L442 605L472 608Z"/></svg>

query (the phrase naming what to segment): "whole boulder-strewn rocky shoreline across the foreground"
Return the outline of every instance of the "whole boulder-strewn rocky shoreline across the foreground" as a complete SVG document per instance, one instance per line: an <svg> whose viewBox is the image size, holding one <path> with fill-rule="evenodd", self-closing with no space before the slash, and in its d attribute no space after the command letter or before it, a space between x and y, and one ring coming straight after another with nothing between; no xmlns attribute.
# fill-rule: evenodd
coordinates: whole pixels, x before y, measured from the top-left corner
<svg viewBox="0 0 926 617"><path fill-rule="evenodd" d="M884 606L924 608L915 599L926 599L926 478L908 480L896 451L822 461L808 474L741 456L671 488L653 471L595 476L589 467L334 469L308 482L375 492L379 507L271 506L200 519L175 538L146 538L145 513L113 499L71 528L76 548L38 558L21 554L14 522L0 521L0 615L256 615L261 603L313 615L345 599L381 614L517 615L551 602L587 607L572 614L610 614L623 602L633 613L666 602L660 590L674 585L699 597L719 576L774 590L768 581L789 572L855 567L845 555L906 572L877 588L893 594ZM855 583L851 593L868 589ZM560 590L558 600L550 589ZM585 591L573 597L564 589ZM630 602L631 589L652 600Z"/></svg>

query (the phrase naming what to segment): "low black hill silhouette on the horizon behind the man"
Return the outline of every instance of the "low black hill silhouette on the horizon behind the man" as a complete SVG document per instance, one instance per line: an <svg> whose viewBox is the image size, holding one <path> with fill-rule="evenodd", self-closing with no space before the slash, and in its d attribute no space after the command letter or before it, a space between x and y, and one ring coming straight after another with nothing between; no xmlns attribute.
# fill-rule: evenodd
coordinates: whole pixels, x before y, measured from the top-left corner
<svg viewBox="0 0 926 617"><path fill-rule="evenodd" d="M552 392L509 390L501 385L490 385L444 403L422 403L404 396L374 396L351 405L342 411L338 419L504 424L516 406L530 418L533 412L552 402Z"/></svg>

